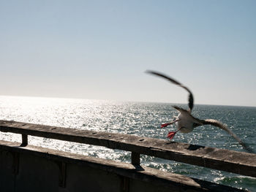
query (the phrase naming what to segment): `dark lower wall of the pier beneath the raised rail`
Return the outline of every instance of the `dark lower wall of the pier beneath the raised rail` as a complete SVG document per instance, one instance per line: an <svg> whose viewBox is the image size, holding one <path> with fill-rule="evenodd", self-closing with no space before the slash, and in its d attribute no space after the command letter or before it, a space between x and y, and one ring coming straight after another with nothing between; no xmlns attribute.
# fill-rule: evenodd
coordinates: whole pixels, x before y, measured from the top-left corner
<svg viewBox="0 0 256 192"><path fill-rule="evenodd" d="M0 141L0 191L243 191L58 150Z"/></svg>

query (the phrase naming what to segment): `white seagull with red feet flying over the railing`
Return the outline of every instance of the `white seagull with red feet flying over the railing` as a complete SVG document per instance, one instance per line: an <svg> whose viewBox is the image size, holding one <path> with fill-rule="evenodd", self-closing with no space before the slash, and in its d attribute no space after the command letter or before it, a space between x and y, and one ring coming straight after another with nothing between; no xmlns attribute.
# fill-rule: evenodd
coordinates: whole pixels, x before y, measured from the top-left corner
<svg viewBox="0 0 256 192"><path fill-rule="evenodd" d="M186 86L182 85L180 82L174 80L171 77L167 77L165 74L159 73L159 72L154 72L154 71L146 71L146 73L149 74L154 74L159 77L165 78L165 80L169 80L170 82L180 86L181 88L184 88L187 92L189 92L189 110L184 110L181 107L177 107L173 105L172 107L176 110L178 110L179 114L177 117L174 117L175 120L169 122L169 123L164 123L161 125L161 128L172 125L173 123L176 125L178 128L176 131L171 131L167 134L167 137L170 139L173 139L174 135L178 132L181 131L181 133L189 133L193 131L194 128L197 126L204 126L204 125L211 125L211 126L216 126L219 128L222 128L223 130L227 131L228 134L230 134L233 138L235 138L240 145L242 145L246 150L249 152L252 152L252 150L239 139L236 134L234 134L227 126L225 126L223 123L221 123L219 120L214 120L214 119L206 119L206 120L201 120L198 118L195 118L192 116L192 108L194 106L194 98L192 92L187 88Z"/></svg>

